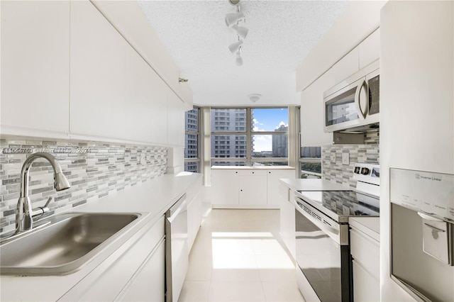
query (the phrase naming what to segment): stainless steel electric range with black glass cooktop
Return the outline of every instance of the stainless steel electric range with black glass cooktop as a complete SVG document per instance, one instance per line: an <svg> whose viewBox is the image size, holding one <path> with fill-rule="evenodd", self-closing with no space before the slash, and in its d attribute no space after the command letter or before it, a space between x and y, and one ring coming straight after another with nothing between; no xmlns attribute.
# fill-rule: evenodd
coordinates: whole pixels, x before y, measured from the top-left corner
<svg viewBox="0 0 454 302"><path fill-rule="evenodd" d="M366 186L374 186L371 191L376 194L380 167L358 164L354 171L357 178L375 183ZM297 191L294 203L297 282L304 298L353 301L348 218L379 216L380 199L358 189Z"/></svg>

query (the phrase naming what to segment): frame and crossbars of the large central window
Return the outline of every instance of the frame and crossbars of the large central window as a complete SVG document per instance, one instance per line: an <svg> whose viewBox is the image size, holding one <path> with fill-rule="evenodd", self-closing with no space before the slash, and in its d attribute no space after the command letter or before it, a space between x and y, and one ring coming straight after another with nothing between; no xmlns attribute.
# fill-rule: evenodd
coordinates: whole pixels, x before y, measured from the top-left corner
<svg viewBox="0 0 454 302"><path fill-rule="evenodd" d="M253 123L252 123L252 111L253 109L268 109L268 108L287 108L287 123L288 123L288 106L270 106L270 107L262 107L262 106L212 106L211 110L213 109L246 109L246 130L245 131L214 131L211 129L210 133L210 143L211 137L214 135L245 135L246 136L246 157L211 157L210 154L210 166L213 166L214 162L241 162L244 163L245 166L251 166L253 162L289 162L289 156L287 152L287 157L253 157L253 146L252 146L252 139L253 135L289 135L289 131L253 131ZM211 111L212 113L213 111ZM211 115L211 119L214 116ZM209 121L211 123L211 121ZM211 145L211 147L214 147ZM287 150L288 150L288 142L287 142Z"/></svg>

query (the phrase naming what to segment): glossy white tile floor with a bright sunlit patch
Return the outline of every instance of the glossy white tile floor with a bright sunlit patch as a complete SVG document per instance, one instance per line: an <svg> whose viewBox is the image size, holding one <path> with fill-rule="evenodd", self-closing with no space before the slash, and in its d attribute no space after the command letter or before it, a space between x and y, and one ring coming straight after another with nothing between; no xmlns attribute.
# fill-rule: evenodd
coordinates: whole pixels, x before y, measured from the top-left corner
<svg viewBox="0 0 454 302"><path fill-rule="evenodd" d="M209 211L179 301L304 301L283 246L278 210Z"/></svg>

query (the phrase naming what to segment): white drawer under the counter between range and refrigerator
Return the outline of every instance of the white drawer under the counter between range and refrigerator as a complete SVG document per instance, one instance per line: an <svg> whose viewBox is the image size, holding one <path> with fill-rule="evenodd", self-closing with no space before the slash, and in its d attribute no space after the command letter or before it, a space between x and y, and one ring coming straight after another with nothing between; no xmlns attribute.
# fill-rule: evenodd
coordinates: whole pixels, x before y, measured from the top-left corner
<svg viewBox="0 0 454 302"><path fill-rule="evenodd" d="M380 276L380 242L359 230L350 230L350 252L373 276Z"/></svg>

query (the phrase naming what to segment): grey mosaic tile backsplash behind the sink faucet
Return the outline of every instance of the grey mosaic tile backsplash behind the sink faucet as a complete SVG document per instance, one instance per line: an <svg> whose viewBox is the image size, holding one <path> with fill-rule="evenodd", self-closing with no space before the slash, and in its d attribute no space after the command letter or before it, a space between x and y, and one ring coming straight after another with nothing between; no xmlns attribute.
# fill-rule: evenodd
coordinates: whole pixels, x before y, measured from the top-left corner
<svg viewBox="0 0 454 302"><path fill-rule="evenodd" d="M70 210L167 171L166 147L26 138L2 138L0 147L0 233L14 229L21 167L31 152L54 155L71 184L70 189L55 191L50 163L44 159L33 162L28 190L33 208L53 196L51 213Z"/></svg>

